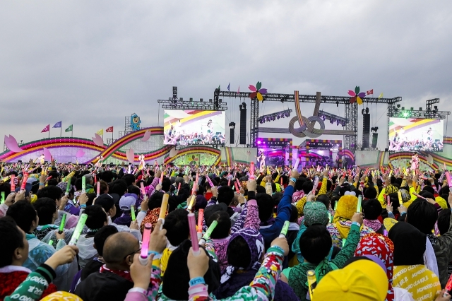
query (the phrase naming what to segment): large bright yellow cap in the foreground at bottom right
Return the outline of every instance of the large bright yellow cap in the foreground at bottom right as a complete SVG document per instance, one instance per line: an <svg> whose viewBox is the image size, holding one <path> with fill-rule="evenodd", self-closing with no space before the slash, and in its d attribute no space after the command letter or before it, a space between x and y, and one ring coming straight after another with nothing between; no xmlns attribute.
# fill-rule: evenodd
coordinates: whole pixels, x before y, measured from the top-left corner
<svg viewBox="0 0 452 301"><path fill-rule="evenodd" d="M314 296L315 300L383 301L387 290L388 278L379 264L359 260L327 273Z"/></svg>

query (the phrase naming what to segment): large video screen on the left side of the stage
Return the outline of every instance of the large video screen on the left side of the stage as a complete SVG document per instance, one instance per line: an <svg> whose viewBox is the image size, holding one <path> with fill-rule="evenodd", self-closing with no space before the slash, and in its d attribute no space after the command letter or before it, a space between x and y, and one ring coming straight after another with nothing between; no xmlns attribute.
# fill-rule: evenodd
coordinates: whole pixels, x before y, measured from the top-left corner
<svg viewBox="0 0 452 301"><path fill-rule="evenodd" d="M179 146L225 143L225 112L165 110L164 143Z"/></svg>

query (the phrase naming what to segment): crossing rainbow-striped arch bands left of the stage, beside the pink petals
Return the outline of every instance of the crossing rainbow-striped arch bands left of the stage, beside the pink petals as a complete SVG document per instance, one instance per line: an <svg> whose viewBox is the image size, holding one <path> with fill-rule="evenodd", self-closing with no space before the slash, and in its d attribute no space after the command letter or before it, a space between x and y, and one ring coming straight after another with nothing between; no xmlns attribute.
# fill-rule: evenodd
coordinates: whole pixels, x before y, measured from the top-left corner
<svg viewBox="0 0 452 301"><path fill-rule="evenodd" d="M102 155L104 157L104 160L112 156L113 158L127 161L126 153L119 151L119 149L131 143L132 141L135 141L139 138L143 138L146 131L150 131L150 136L163 135L163 128L161 126L149 127L140 129L138 131L133 131L130 134L127 134L126 136L122 136L117 141L114 141L114 143L112 143L111 145L109 146L104 145L103 147L97 146L92 140L86 138L73 138L73 137L46 138L22 144L20 148L22 148L23 151L20 153L14 153L12 151L5 151L3 153L0 153L0 159L4 162L10 162L22 157L23 155L40 151L42 150L42 148L50 149L61 147L73 147L98 151L99 152L98 155ZM144 153L145 160L146 161L155 160L156 158L162 157L163 155L169 153L172 147L173 146L163 146L162 148L159 148L155 151ZM98 160L97 156L95 158L90 158L90 160L84 163L88 164L97 162ZM139 162L138 154L135 155L134 161L136 163Z"/></svg>

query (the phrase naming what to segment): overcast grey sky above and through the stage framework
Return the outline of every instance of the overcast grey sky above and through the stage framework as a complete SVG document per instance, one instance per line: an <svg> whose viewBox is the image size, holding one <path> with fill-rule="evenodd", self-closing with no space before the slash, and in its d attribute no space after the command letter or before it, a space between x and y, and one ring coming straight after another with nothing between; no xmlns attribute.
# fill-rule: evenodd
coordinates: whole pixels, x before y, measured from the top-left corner
<svg viewBox="0 0 452 301"><path fill-rule="evenodd" d="M451 11L452 1L417 0L4 0L0 135L45 138L44 126L62 120L74 136L114 126L117 137L133 112L141 126L156 126L157 99L171 96L173 85L185 99L213 98L228 83L344 96L359 85L401 96L405 107L440 98L439 109L452 110ZM241 101L224 101L226 122L238 127ZM312 108L302 112L309 117ZM284 109L266 102L261 114ZM369 109L384 148L386 106ZM344 114L335 105L321 110ZM273 124L287 127L288 119Z"/></svg>

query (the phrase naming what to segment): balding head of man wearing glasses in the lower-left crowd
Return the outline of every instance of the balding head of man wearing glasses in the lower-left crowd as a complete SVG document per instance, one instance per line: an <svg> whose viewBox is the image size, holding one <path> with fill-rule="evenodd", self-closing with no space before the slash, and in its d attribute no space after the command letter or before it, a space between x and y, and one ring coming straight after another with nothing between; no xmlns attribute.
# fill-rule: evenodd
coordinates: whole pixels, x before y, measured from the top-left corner
<svg viewBox="0 0 452 301"><path fill-rule="evenodd" d="M107 265L124 265L128 266L127 259L124 258L131 255L140 248L140 243L129 232L119 232L110 235L105 240L103 257Z"/></svg>

